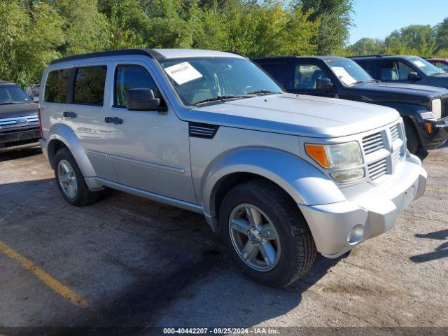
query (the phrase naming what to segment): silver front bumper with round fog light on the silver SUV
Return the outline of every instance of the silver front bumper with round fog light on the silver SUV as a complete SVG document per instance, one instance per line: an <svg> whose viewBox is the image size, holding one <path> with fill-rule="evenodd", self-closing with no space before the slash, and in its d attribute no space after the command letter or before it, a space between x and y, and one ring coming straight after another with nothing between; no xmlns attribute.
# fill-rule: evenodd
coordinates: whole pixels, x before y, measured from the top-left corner
<svg viewBox="0 0 448 336"><path fill-rule="evenodd" d="M389 179L371 193L332 204L298 204L304 215L317 251L337 258L362 241L393 228L395 218L421 197L426 188L426 171L414 155L397 167Z"/></svg>

